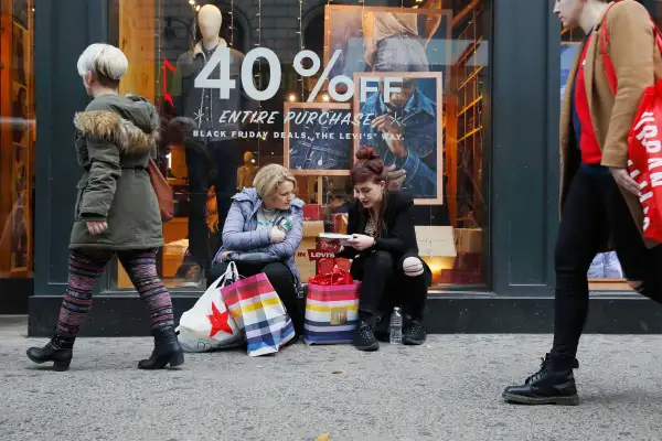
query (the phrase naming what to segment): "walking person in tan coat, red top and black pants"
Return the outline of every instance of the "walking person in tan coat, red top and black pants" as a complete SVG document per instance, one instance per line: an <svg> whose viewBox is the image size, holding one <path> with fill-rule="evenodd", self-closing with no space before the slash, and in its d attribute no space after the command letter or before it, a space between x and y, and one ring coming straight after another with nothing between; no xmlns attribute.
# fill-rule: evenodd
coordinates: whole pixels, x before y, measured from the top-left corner
<svg viewBox="0 0 662 441"><path fill-rule="evenodd" d="M616 248L630 286L662 301L662 247L644 240L641 190L627 170L628 135L643 92L662 77L654 26L634 0L556 0L554 13L565 28L580 26L586 40L560 111L554 344L538 372L503 392L505 400L524 405L579 401L573 369L579 366L575 357L588 314L587 271L597 252Z"/></svg>

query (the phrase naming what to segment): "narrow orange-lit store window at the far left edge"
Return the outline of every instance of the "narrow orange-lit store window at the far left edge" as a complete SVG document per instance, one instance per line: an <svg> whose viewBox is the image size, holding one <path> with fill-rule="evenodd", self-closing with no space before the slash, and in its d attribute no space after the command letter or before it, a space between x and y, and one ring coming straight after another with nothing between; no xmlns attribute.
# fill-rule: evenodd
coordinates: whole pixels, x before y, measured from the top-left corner
<svg viewBox="0 0 662 441"><path fill-rule="evenodd" d="M33 277L34 9L0 0L0 278Z"/></svg>

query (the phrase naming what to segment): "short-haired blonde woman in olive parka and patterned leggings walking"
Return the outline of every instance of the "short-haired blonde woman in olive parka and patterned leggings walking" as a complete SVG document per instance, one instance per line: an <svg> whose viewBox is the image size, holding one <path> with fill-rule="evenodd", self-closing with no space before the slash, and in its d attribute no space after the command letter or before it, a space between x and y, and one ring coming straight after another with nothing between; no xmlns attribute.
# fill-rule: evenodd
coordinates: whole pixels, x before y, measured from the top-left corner
<svg viewBox="0 0 662 441"><path fill-rule="evenodd" d="M76 114L76 157L83 169L72 228L68 286L57 327L44 347L31 347L35 363L54 362L66 370L74 340L92 306L92 289L117 255L146 302L154 351L141 369L184 363L174 333L172 302L157 275L157 250L163 246L157 196L147 172L159 136L154 107L141 97L120 96L128 61L117 47L93 44L78 58L78 74L94 99Z"/></svg>

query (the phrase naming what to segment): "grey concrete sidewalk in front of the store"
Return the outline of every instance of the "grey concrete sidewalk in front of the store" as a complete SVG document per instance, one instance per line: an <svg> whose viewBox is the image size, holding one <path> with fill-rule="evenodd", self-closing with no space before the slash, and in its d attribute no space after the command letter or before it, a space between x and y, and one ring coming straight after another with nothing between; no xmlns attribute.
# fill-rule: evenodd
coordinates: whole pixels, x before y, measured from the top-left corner
<svg viewBox="0 0 662 441"><path fill-rule="evenodd" d="M136 369L148 338L81 338L54 373L28 361L45 341L24 332L0 320L3 441L662 439L662 336L584 337L580 406L523 407L501 391L537 369L549 335L435 335L373 354L297 344L163 372Z"/></svg>

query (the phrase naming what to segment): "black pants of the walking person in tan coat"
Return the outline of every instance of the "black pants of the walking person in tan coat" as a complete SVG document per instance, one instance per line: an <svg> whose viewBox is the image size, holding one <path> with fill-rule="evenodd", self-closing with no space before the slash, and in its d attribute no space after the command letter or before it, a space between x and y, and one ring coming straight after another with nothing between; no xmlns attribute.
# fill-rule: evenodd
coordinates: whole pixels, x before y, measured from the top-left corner
<svg viewBox="0 0 662 441"><path fill-rule="evenodd" d="M610 174L580 169L570 184L554 252L556 294L552 354L568 363L577 354L588 315L587 272L610 235L628 280L643 281L639 291L660 302L662 247L645 247Z"/></svg>

